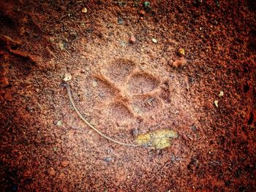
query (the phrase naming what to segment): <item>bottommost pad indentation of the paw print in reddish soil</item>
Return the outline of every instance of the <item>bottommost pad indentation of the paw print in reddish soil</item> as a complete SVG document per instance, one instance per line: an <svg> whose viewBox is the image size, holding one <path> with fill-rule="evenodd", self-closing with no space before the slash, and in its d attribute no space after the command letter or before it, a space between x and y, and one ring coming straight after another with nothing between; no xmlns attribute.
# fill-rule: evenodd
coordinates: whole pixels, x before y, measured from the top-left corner
<svg viewBox="0 0 256 192"><path fill-rule="evenodd" d="M129 109L121 102L114 102L108 105L107 108L108 116L114 120L127 120L132 118L132 113Z"/></svg>

